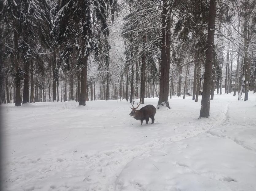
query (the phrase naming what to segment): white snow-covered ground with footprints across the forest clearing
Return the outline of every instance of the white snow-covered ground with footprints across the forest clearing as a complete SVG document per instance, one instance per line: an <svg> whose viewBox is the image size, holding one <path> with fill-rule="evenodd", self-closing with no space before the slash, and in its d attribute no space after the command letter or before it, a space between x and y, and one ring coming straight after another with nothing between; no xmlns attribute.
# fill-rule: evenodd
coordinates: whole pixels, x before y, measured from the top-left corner
<svg viewBox="0 0 256 191"><path fill-rule="evenodd" d="M4 189L255 191L256 94L169 101L142 126L125 100L2 104Z"/></svg>

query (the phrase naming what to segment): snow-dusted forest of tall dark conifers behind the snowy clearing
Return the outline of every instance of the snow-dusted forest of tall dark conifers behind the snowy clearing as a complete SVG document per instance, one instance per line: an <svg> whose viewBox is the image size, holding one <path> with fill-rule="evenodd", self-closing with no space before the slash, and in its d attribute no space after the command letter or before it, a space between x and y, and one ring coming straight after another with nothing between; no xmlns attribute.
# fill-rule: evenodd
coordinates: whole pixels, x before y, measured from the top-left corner
<svg viewBox="0 0 256 191"><path fill-rule="evenodd" d="M210 2L4 0L1 103L155 96L170 107L169 96L202 91L208 117L215 89L246 101L256 2Z"/></svg>

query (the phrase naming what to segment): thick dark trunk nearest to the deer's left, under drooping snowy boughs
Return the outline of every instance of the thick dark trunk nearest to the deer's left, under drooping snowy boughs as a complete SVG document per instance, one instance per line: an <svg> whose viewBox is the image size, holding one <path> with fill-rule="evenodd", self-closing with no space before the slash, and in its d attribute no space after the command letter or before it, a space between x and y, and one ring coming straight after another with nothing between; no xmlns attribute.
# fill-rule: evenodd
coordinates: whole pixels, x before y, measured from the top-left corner
<svg viewBox="0 0 256 191"><path fill-rule="evenodd" d="M84 51L82 51L82 52L84 52ZM79 106L85 106L88 56L84 56L81 61L83 63L83 67L81 70L81 92L80 92Z"/></svg>

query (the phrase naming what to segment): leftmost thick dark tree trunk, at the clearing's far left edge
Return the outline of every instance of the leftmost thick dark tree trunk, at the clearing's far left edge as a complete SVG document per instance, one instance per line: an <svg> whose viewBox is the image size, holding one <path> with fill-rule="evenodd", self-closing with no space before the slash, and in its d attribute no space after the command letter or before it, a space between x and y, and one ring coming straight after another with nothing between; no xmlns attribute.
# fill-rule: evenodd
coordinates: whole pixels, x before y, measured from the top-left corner
<svg viewBox="0 0 256 191"><path fill-rule="evenodd" d="M15 106L21 106L21 86L20 86L20 67L19 67L19 52L18 52L18 33L16 23L13 24L14 30L14 65L15 65L15 86L16 86L16 96L15 96Z"/></svg>

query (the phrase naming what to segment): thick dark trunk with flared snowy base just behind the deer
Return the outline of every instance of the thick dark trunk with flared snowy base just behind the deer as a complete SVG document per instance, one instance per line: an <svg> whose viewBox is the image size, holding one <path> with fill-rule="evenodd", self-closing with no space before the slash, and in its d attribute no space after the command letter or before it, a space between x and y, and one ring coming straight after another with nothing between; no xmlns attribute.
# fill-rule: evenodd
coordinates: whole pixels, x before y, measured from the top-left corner
<svg viewBox="0 0 256 191"><path fill-rule="evenodd" d="M170 109L168 101L169 75L170 75L170 16L167 10L167 0L163 0L162 10L162 42L161 42L161 63L160 63L160 92L158 106L165 105ZM159 107L158 107L159 108Z"/></svg>

